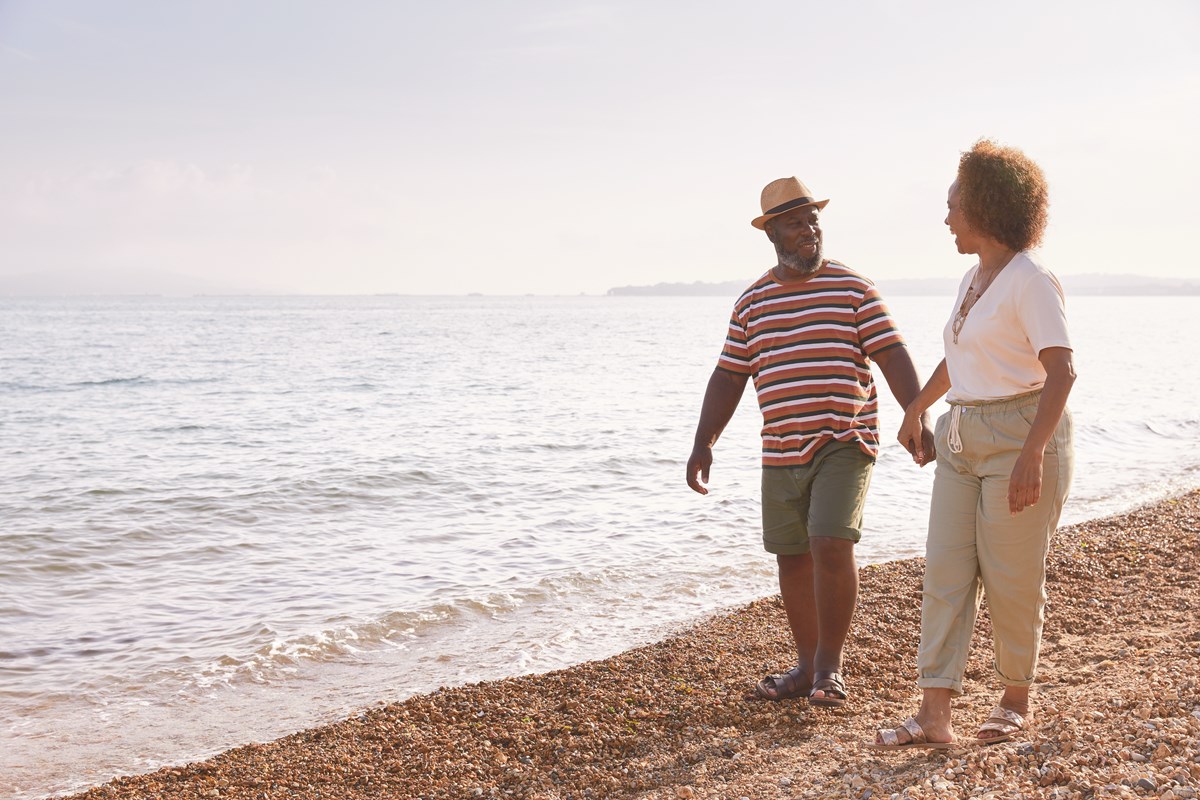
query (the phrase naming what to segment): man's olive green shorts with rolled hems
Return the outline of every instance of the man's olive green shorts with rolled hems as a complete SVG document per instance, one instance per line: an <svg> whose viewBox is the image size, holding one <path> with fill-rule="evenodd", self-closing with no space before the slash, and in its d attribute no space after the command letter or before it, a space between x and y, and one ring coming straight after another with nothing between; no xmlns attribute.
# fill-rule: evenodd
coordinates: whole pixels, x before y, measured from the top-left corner
<svg viewBox="0 0 1200 800"><path fill-rule="evenodd" d="M875 459L857 443L830 441L803 467L762 470L762 546L775 555L803 555L812 536L857 542Z"/></svg>

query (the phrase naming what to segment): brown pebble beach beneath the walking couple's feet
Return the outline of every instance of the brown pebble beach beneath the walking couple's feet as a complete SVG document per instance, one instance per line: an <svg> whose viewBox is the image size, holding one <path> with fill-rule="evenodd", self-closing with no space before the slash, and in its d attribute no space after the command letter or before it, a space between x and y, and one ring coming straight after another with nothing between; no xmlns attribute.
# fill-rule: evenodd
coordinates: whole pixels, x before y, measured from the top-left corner
<svg viewBox="0 0 1200 800"><path fill-rule="evenodd" d="M1061 528L1031 727L989 747L860 747L919 702L923 560L905 559L860 570L839 710L746 699L794 657L773 596L601 661L442 688L70 796L1190 800L1198 553L1200 491ZM955 703L960 736L998 697L990 654L984 612Z"/></svg>

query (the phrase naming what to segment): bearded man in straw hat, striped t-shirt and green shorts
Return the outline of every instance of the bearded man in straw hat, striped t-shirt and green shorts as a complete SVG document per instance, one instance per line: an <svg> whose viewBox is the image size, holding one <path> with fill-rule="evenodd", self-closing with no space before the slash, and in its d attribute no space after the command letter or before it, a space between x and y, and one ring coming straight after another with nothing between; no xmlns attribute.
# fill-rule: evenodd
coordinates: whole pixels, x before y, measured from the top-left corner
<svg viewBox="0 0 1200 800"><path fill-rule="evenodd" d="M756 692L838 706L847 699L841 651L858 600L854 543L880 446L870 361L901 407L920 381L875 285L823 257L820 212L828 203L796 178L762 191L762 216L750 224L766 231L779 261L734 303L704 392L688 486L708 494L713 445L754 377L763 415L763 547L779 563L797 655L794 667L767 675Z"/></svg>

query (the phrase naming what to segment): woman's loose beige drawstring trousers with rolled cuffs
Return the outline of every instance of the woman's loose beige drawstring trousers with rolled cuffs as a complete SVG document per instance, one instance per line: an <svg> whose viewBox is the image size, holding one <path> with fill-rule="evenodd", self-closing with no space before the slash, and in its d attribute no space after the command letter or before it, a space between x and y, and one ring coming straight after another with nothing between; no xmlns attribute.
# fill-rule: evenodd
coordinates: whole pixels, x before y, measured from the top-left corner
<svg viewBox="0 0 1200 800"><path fill-rule="evenodd" d="M1070 414L1045 449L1042 497L1015 517L1008 480L1037 414L1040 392L952 407L937 421L937 469L929 511L917 685L962 693L962 672L983 593L988 594L996 675L1033 682L1042 646L1046 552L1070 488ZM956 417L956 419L955 419ZM952 452L960 450L960 452Z"/></svg>

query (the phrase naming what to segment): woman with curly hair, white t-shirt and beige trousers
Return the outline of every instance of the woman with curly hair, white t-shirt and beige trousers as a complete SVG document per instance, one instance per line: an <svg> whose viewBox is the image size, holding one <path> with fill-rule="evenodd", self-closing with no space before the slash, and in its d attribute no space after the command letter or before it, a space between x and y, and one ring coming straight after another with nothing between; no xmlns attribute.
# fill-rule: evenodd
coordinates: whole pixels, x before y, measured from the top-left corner
<svg viewBox="0 0 1200 800"><path fill-rule="evenodd" d="M959 287L943 331L946 357L905 411L900 441L924 461L922 414L946 395L935 431L920 612L920 710L881 729L878 748L948 747L950 700L982 591L1004 691L978 740L1025 727L1045 606L1045 560L1072 475L1067 396L1075 380L1058 281L1028 249L1046 224L1045 178L1019 150L980 140L962 154L949 191L959 252L979 261Z"/></svg>

